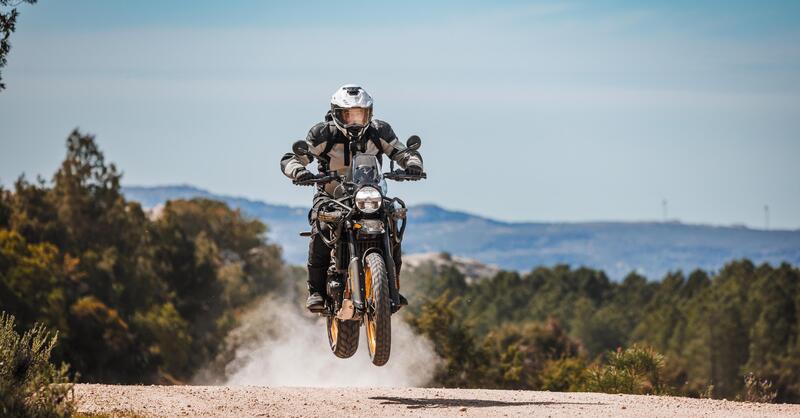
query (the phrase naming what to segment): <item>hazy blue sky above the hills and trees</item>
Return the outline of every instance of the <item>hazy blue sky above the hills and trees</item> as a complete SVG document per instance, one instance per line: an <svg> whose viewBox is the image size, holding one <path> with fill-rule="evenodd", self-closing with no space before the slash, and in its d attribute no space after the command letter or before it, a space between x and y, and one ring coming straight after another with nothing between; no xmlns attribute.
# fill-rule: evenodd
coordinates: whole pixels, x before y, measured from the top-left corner
<svg viewBox="0 0 800 418"><path fill-rule="evenodd" d="M392 185L506 220L800 228L800 2L155 2L20 7L0 182L74 127L126 184L307 205L280 156L340 84L423 139Z"/></svg>

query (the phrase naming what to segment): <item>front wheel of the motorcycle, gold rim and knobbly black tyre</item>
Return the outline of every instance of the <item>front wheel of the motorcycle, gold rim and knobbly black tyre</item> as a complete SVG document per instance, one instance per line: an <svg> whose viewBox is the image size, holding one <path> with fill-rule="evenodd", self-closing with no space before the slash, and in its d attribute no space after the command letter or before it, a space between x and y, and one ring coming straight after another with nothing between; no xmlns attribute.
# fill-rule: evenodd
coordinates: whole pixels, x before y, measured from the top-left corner
<svg viewBox="0 0 800 418"><path fill-rule="evenodd" d="M367 346L372 364L383 366L392 349L392 308L386 263L379 253L367 255L364 266L364 290L368 310L365 325Z"/></svg>

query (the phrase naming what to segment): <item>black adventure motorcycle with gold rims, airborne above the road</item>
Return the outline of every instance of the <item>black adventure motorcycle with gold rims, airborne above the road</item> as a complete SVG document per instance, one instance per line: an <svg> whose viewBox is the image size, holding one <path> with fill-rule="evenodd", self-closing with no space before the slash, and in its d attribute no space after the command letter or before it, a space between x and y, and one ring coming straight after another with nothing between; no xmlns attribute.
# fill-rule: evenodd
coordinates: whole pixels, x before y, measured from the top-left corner
<svg viewBox="0 0 800 418"><path fill-rule="evenodd" d="M415 135L400 152L411 152L421 145ZM317 206L311 219L313 233L321 234L323 242L333 249L325 305L319 313L327 318L333 354L341 358L355 354L359 327L364 324L372 364L383 366L391 352L391 315L401 308L394 251L403 240L407 213L402 200L386 195L385 180L421 180L427 175L395 170L394 161L390 171L382 173L381 161L375 155L359 153L354 142L349 146L354 157L345 176L332 171L294 184L339 182L334 195ZM292 151L297 156L313 157L305 141L295 142Z"/></svg>

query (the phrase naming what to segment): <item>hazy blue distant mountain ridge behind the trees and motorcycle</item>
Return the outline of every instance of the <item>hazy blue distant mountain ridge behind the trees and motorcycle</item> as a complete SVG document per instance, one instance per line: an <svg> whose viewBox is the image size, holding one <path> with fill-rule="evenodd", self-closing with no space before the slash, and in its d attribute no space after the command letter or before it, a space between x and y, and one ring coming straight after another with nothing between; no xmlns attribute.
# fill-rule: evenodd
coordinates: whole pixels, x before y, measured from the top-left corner
<svg viewBox="0 0 800 418"><path fill-rule="evenodd" d="M123 192L148 208L170 199L224 201L266 223L287 261L305 264L308 239L298 233L309 228L308 208L216 195L189 185L127 186ZM800 230L679 222L502 222L425 204L409 208L403 251L443 251L511 270L563 263L602 269L613 279L631 271L660 279L668 271L717 270L737 258L798 265Z"/></svg>

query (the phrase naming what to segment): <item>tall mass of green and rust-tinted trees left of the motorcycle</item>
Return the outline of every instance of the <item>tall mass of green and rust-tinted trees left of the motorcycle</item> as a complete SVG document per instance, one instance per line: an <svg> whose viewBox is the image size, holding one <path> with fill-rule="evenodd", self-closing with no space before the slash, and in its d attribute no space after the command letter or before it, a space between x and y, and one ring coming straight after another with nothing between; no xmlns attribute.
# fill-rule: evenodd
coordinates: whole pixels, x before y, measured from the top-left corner
<svg viewBox="0 0 800 418"><path fill-rule="evenodd" d="M96 382L180 382L237 311L278 286L266 226L208 200L145 213L94 137L73 131L52 186L0 190L0 302L59 330L54 355ZM152 218L152 219L151 219Z"/></svg>

